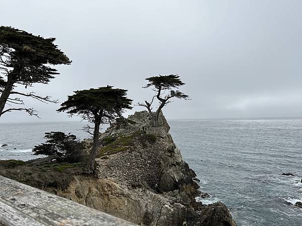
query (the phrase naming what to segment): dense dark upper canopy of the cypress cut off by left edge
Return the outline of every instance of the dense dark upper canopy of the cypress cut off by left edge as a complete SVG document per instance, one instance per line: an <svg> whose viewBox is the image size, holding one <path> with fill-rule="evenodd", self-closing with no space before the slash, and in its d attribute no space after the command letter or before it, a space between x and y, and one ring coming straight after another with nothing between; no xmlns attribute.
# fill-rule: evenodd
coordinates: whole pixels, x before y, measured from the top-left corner
<svg viewBox="0 0 302 226"><path fill-rule="evenodd" d="M2 66L13 68L12 79L19 84L48 83L57 70L49 65L70 64L68 57L53 42L12 27L0 26ZM10 74L10 73L9 73Z"/></svg>

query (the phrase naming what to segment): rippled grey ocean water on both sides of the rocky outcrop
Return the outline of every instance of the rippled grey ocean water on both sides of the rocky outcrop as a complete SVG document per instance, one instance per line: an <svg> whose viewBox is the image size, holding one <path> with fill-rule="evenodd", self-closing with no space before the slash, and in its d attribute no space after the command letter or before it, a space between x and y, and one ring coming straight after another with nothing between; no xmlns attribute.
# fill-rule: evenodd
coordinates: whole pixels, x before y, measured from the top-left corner
<svg viewBox="0 0 302 226"><path fill-rule="evenodd" d="M240 225L302 225L302 119L177 120L171 135L196 172L204 204L224 202ZM0 124L0 159L37 158L44 133L88 135L79 122ZM281 176L290 172L296 176ZM296 183L297 182L297 183Z"/></svg>

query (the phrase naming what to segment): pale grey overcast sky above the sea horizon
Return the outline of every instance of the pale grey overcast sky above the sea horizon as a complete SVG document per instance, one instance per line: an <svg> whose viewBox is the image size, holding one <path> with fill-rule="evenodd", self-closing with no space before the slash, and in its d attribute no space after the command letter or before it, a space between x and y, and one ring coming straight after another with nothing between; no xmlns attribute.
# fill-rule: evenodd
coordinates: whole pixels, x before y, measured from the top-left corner
<svg viewBox="0 0 302 226"><path fill-rule="evenodd" d="M28 88L64 101L107 84L150 99L144 78L179 74L192 100L169 119L302 116L302 1L0 0L0 24L55 37L72 60L48 85ZM26 100L40 121L65 121L59 104ZM134 110L142 110L134 107ZM132 111L128 111L130 114ZM24 112L5 122L37 121Z"/></svg>

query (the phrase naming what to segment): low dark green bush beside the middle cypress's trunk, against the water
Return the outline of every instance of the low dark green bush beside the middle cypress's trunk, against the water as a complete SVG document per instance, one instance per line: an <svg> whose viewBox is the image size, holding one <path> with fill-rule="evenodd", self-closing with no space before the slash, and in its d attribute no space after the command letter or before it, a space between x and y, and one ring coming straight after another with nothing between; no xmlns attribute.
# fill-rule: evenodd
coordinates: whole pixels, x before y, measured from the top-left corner
<svg viewBox="0 0 302 226"><path fill-rule="evenodd" d="M47 141L33 148L34 155L56 155L66 161L79 162L83 155L83 144L72 134L63 132L45 133Z"/></svg>

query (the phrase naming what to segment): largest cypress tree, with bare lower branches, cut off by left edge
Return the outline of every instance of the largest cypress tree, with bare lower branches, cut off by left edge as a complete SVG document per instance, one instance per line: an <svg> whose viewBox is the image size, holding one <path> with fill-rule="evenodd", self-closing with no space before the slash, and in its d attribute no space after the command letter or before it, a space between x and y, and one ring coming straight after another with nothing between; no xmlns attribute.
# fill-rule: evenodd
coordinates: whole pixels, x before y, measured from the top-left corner
<svg viewBox="0 0 302 226"><path fill-rule="evenodd" d="M25 88L34 83L47 84L54 75L59 74L50 65L71 63L54 41L55 38L43 38L12 27L0 26L0 117L13 110L23 110L29 115L37 116L33 108L4 109L7 103L24 104L20 96L32 97L42 102L57 102L51 100L50 96L13 91L17 84L24 85Z"/></svg>

